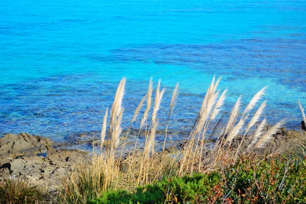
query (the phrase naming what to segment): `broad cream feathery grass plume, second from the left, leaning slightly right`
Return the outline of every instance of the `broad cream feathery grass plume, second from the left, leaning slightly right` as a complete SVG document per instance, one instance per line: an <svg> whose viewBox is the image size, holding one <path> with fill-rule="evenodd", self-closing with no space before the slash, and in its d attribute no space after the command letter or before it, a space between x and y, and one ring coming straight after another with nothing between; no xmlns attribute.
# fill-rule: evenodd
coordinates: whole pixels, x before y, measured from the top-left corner
<svg viewBox="0 0 306 204"><path fill-rule="evenodd" d="M116 119L119 116L122 109L122 99L124 96L125 89L125 77L123 77L118 85L115 98L113 101L112 109L111 109L111 117L110 117L110 126L109 126L109 134L112 132Z"/></svg>

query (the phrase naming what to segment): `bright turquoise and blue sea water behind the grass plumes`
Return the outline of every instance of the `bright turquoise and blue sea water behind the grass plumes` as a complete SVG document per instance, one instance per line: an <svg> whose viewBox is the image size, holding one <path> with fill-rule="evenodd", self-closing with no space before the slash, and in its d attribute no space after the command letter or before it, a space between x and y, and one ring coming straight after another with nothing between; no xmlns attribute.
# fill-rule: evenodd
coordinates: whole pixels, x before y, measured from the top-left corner
<svg viewBox="0 0 306 204"><path fill-rule="evenodd" d="M265 86L270 124L287 118L297 129L297 99L306 106L306 1L3 0L0 19L1 136L96 134L124 76L125 127L152 77L167 88L162 130L180 82L174 140L190 131L214 74L228 88L226 114Z"/></svg>

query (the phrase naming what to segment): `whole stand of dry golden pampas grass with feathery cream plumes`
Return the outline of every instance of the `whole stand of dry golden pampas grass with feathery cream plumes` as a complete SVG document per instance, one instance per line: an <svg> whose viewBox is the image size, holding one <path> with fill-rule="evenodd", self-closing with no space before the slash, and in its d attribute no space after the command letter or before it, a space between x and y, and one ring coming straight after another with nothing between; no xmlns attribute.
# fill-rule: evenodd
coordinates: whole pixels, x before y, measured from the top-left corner
<svg viewBox="0 0 306 204"><path fill-rule="evenodd" d="M237 163L240 164L241 158L260 154L273 140L273 135L281 129L285 120L267 129L268 121L263 118L267 105L267 100L263 99L267 89L265 87L253 96L244 109L242 96L238 97L228 115L227 123L220 130L217 129L224 115L222 109L228 92L227 89L221 91L218 88L220 80L221 78L213 77L202 99L194 125L186 135L186 139L184 138L185 141L175 152L168 154L165 144L167 137L171 139L167 133L168 125L171 114L175 111L179 83L175 86L170 105L168 105L163 148L161 152L156 152L159 110L166 89L161 88L161 80L159 80L154 90L152 79L150 80L147 93L141 99L126 134L121 136L124 110L122 101L125 91L125 78L122 78L115 93L110 114L106 109L102 121L100 152L71 174L70 180L65 182L61 200L64 203L86 203L94 197L104 196L105 192L116 189L126 189L128 191L126 193L129 194L135 192L139 185L150 185L173 176L192 176L194 173L209 173L216 170L224 172L225 169ZM262 101L261 104L259 104L260 101ZM144 108L143 111L141 111L142 108ZM140 113L143 114L140 115ZM136 143L134 148L127 149L126 138L130 130L134 128L135 121L140 122L139 130L136 130L138 134L135 135ZM209 140L211 133L216 136L216 141L213 148L208 149L207 144L211 141ZM144 144L137 145L140 137L144 139ZM265 158L266 155L263 157ZM215 190L219 192L220 188ZM129 194L129 196L132 195ZM179 199L175 197L172 197L174 201Z"/></svg>

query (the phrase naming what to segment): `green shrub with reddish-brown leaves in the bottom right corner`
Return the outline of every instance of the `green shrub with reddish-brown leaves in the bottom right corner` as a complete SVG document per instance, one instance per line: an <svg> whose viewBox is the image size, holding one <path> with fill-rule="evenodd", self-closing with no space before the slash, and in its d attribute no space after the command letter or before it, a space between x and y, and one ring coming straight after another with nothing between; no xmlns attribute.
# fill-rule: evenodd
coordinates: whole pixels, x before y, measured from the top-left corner
<svg viewBox="0 0 306 204"><path fill-rule="evenodd" d="M225 194L235 203L305 203L305 160L279 156L239 161L225 171Z"/></svg>

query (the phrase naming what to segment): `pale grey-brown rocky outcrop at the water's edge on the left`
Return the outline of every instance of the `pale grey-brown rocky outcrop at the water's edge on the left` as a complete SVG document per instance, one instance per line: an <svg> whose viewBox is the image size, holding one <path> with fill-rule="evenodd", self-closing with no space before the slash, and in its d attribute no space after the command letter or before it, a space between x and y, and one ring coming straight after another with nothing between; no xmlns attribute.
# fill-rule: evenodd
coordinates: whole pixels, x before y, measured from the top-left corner
<svg viewBox="0 0 306 204"><path fill-rule="evenodd" d="M27 133L0 138L0 181L21 179L52 192L74 165L88 158L80 149L56 149L47 138Z"/></svg>

